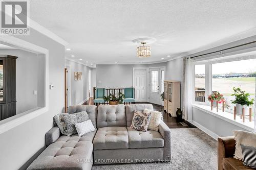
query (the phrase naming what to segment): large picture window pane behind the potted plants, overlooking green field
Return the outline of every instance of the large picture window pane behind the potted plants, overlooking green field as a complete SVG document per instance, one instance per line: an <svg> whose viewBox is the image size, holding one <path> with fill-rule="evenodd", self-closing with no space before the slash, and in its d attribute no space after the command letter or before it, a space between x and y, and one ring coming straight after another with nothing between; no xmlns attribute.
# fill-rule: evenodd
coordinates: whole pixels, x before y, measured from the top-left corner
<svg viewBox="0 0 256 170"><path fill-rule="evenodd" d="M231 61L223 63L215 63L212 68L212 91L219 91L223 94L226 101L225 107L233 110L234 100L233 87L239 87L246 93L250 94L250 98L255 98L255 80L256 80L256 59ZM253 105L254 107L254 105ZM254 111L254 108L252 108ZM252 113L253 114L253 113Z"/></svg>

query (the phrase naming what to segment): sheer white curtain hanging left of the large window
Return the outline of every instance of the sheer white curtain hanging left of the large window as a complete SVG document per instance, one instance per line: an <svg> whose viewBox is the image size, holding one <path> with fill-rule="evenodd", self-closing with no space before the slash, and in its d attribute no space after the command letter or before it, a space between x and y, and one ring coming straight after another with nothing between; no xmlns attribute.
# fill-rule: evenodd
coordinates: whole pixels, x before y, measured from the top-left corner
<svg viewBox="0 0 256 170"><path fill-rule="evenodd" d="M188 57L183 59L183 118L192 120L192 79L193 69L191 59Z"/></svg>

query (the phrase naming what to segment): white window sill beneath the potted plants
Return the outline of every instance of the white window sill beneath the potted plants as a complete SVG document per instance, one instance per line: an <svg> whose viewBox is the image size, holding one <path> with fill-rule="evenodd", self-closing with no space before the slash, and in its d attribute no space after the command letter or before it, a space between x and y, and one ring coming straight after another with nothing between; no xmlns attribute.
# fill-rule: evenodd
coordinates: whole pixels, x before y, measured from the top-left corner
<svg viewBox="0 0 256 170"><path fill-rule="evenodd" d="M193 104L192 107L197 108L201 111L204 111L210 115L216 116L222 120L225 120L226 122L229 122L231 124L239 126L248 131L251 131L251 132L254 131L254 121L253 120L251 122L249 122L249 119L245 118L245 122L243 123L243 120L240 118L240 115L237 115L236 120L234 120L233 119L234 115L232 113L229 113L226 111L222 112L221 110L219 110L219 112L217 112L216 108L212 109L212 111L211 111L210 106L207 106L207 105Z"/></svg>

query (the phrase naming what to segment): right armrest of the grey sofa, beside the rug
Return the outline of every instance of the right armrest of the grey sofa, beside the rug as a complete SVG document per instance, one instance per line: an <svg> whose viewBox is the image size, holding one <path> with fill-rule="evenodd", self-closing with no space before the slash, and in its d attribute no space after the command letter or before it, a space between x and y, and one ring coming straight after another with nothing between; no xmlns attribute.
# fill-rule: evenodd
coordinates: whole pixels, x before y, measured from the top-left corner
<svg viewBox="0 0 256 170"><path fill-rule="evenodd" d="M170 160L170 129L169 127L161 120L159 125L159 132L164 139L164 160Z"/></svg>

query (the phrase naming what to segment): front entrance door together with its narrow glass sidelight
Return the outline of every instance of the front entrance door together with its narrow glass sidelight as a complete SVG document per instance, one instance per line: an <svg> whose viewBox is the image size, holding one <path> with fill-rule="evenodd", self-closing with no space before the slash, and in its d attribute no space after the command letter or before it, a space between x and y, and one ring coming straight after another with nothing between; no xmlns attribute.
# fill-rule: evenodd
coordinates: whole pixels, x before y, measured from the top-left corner
<svg viewBox="0 0 256 170"><path fill-rule="evenodd" d="M149 77L149 102L157 105L163 105L161 93L164 90L163 81L165 80L165 68L150 68Z"/></svg>

